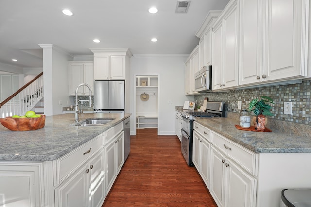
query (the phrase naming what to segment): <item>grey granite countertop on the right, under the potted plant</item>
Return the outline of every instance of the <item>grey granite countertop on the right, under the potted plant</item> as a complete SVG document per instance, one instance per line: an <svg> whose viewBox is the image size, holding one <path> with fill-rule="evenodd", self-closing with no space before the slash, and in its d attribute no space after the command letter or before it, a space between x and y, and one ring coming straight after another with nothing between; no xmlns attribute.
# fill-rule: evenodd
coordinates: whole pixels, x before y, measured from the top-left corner
<svg viewBox="0 0 311 207"><path fill-rule="evenodd" d="M182 107L176 107L182 112ZM272 132L255 132L237 129L239 121L230 118L195 118L203 126L225 136L256 153L311 153L311 137L285 133L271 128Z"/></svg>

